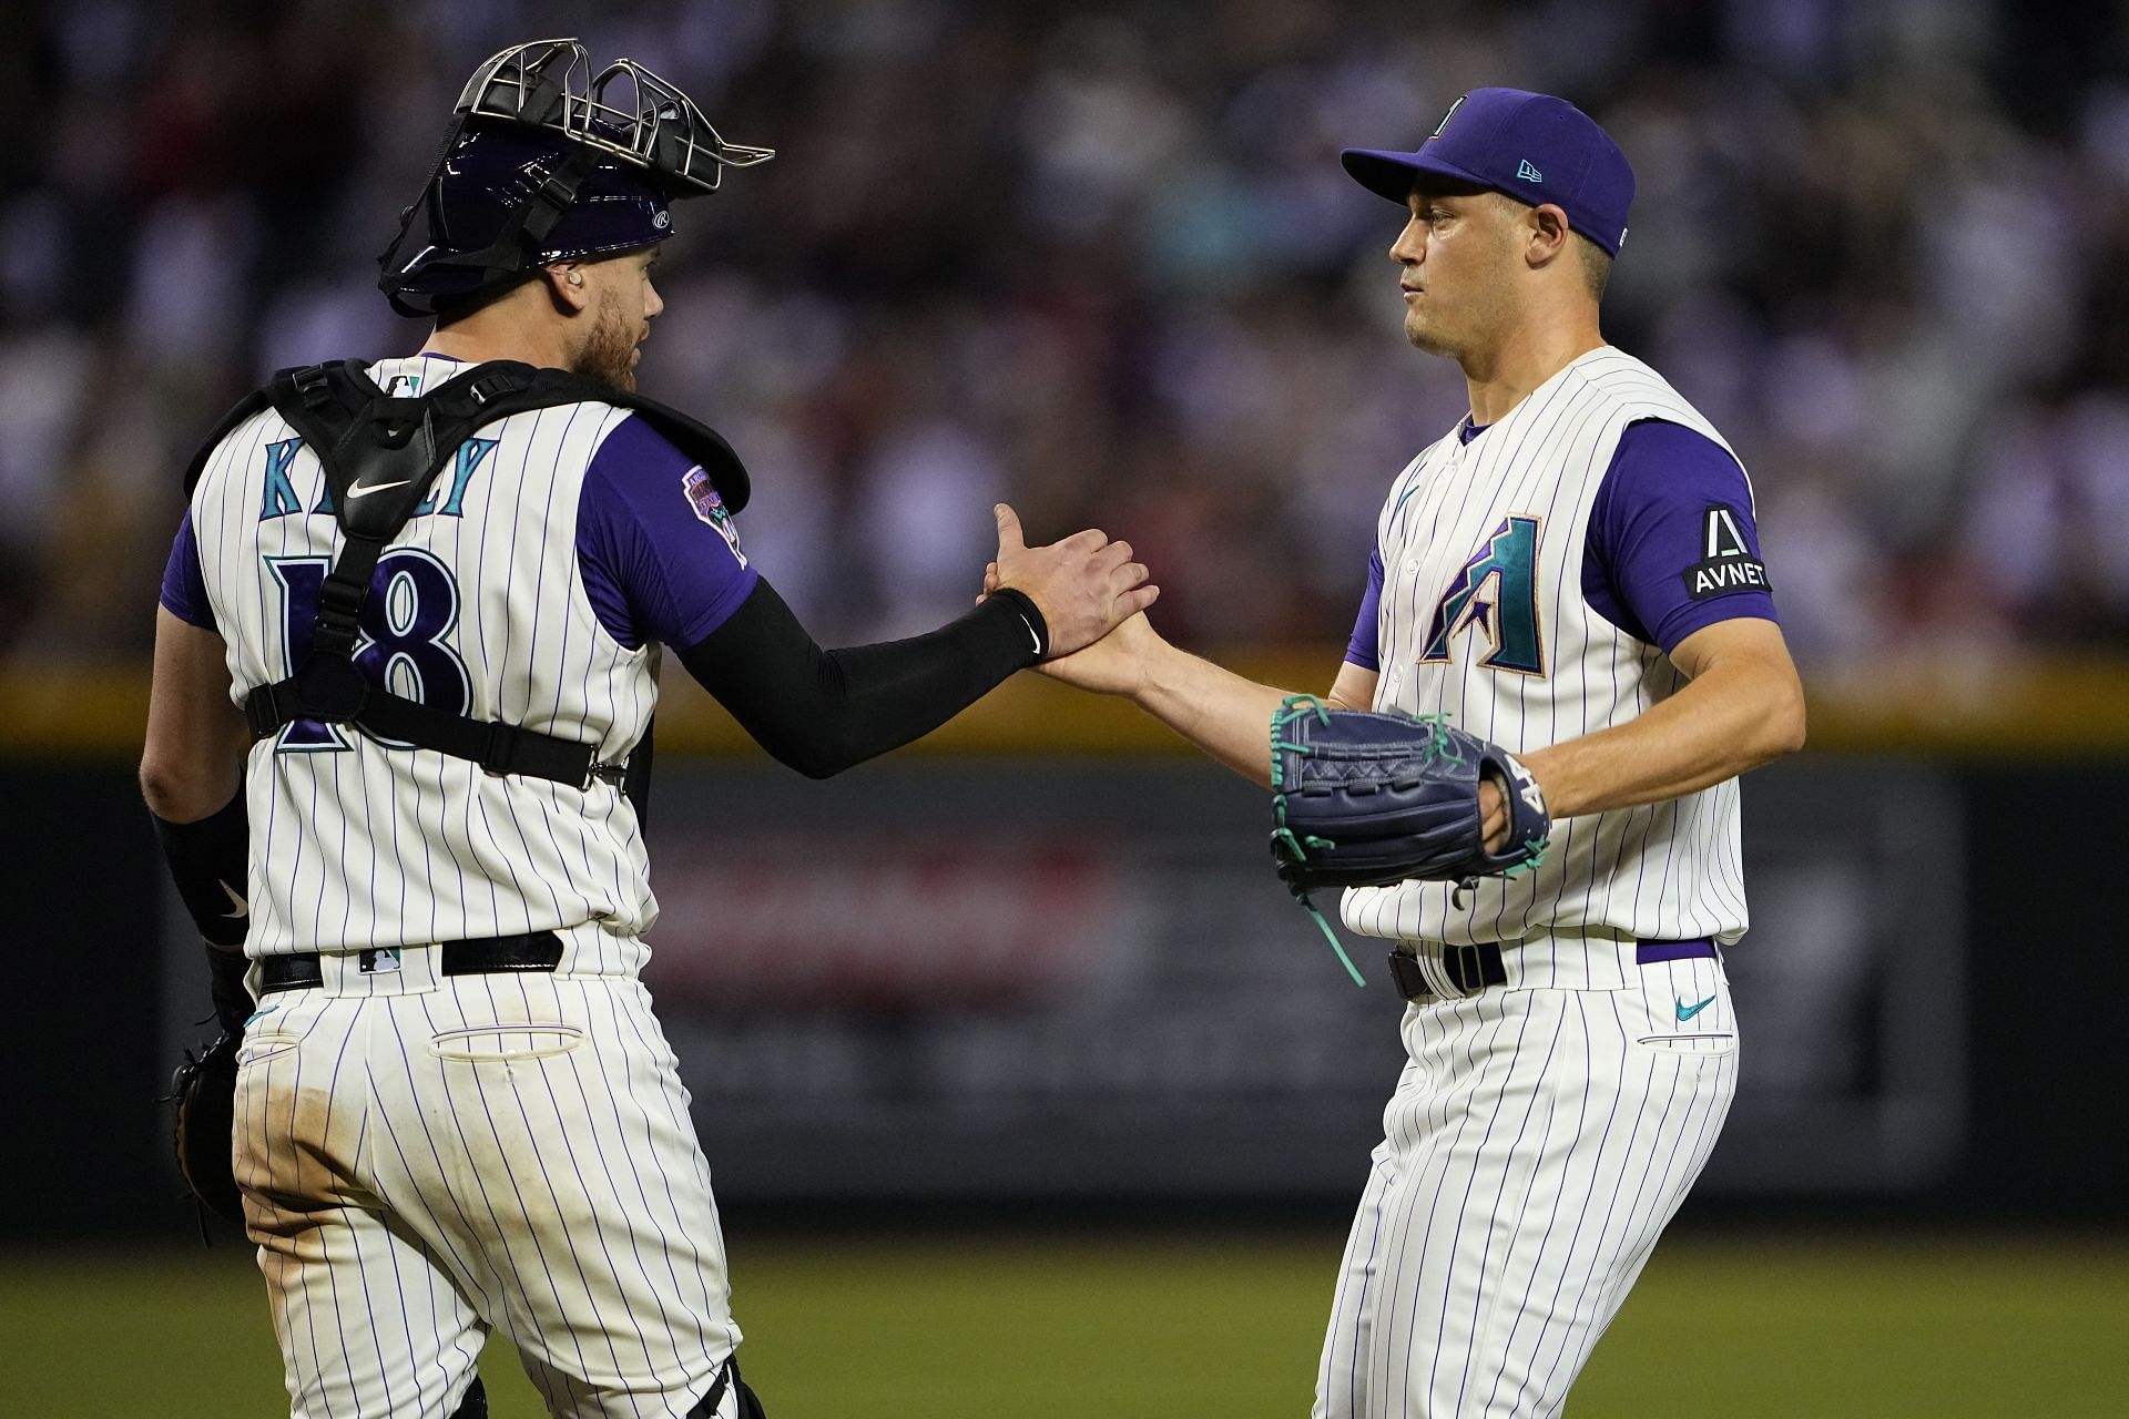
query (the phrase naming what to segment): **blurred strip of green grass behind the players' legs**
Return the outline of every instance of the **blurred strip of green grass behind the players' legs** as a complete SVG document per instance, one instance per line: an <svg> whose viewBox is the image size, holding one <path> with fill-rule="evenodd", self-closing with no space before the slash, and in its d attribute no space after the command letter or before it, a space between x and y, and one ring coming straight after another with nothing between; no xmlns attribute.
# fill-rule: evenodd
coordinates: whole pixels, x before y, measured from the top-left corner
<svg viewBox="0 0 2129 1419"><path fill-rule="evenodd" d="M775 1419L1307 1415L1339 1238L735 1238L747 1379ZM1667 1242L1575 1419L2125 1413L2129 1242ZM537 1419L509 1347L494 1419ZM264 1289L213 1253L0 1264L0 1410L287 1413Z"/></svg>

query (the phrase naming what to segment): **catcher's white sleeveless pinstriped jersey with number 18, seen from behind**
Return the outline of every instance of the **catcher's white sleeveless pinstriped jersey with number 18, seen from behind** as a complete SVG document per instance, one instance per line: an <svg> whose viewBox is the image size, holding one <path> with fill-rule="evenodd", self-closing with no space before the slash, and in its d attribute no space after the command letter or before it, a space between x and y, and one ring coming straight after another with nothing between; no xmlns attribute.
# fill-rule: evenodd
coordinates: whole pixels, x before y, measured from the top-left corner
<svg viewBox="0 0 2129 1419"><path fill-rule="evenodd" d="M456 362L381 360L419 394ZM468 440L379 560L385 679L475 719L598 745L620 762L658 700L656 647L600 625L577 568L577 498L628 417L585 402L509 415ZM232 430L192 494L192 525L238 704L285 677L339 555L317 455L275 411ZM375 598L375 591L373 591ZM253 745L249 955L396 947L596 923L613 964L658 915L637 815L620 789L498 777L351 728L290 725ZM579 951L583 938L579 936ZM581 957L583 959L583 957ZM590 968L583 959L581 968Z"/></svg>

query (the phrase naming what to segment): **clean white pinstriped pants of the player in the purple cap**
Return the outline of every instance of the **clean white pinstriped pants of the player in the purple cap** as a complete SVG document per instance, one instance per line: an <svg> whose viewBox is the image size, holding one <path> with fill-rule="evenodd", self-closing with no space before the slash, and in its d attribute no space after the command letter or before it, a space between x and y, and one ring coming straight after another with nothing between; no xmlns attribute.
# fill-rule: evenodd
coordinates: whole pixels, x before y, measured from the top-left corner
<svg viewBox="0 0 2129 1419"><path fill-rule="evenodd" d="M1648 974L1665 985L1405 1011L1409 1062L1339 1268L1316 1419L1561 1413L1737 1087L1720 966ZM1714 994L1727 1034L1695 1019L1682 1038L1671 987Z"/></svg>

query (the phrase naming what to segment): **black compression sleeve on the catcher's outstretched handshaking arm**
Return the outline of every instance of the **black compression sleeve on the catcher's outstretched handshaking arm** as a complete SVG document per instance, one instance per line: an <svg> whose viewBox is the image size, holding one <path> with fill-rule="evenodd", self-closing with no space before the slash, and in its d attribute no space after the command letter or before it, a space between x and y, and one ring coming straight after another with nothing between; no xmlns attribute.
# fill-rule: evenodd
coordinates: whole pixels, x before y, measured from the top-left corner
<svg viewBox="0 0 2129 1419"><path fill-rule="evenodd" d="M1041 660L1045 642L1035 602L1005 589L935 632L822 651L762 581L679 660L762 749L826 779L930 734Z"/></svg>

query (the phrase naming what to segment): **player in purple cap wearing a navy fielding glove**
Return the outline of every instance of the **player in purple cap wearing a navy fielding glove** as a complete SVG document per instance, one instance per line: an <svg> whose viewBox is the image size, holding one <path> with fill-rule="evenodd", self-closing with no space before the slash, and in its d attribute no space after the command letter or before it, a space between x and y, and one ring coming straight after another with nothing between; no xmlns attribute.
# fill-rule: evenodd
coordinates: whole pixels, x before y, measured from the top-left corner
<svg viewBox="0 0 2129 1419"><path fill-rule="evenodd" d="M1803 694L1744 468L1599 334L1633 200L1612 138L1473 89L1418 151L1343 162L1403 208L1405 336L1471 411L1384 500L1328 698L1145 617L1045 672L1269 785L1286 883L1392 947L1412 1062L1316 1415L1556 1415L1735 1094L1737 774L1801 747Z"/></svg>

